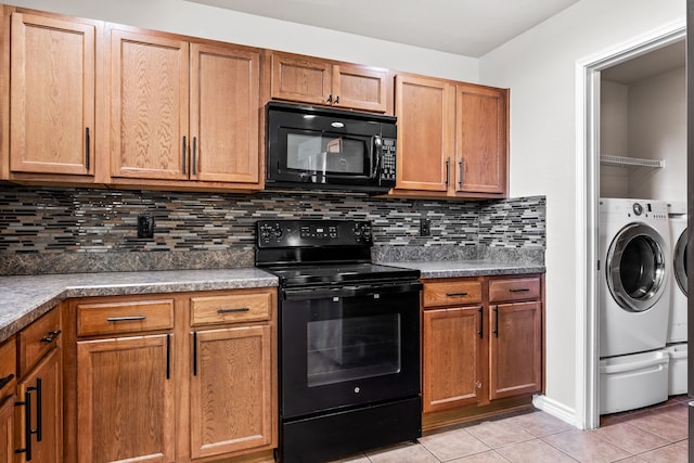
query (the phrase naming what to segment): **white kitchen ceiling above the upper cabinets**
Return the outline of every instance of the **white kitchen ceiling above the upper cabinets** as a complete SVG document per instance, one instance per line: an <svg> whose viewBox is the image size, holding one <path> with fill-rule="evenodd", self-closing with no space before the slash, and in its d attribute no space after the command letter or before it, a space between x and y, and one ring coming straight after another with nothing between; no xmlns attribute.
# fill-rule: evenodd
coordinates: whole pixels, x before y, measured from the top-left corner
<svg viewBox="0 0 694 463"><path fill-rule="evenodd" d="M189 0L479 57L579 0Z"/></svg>

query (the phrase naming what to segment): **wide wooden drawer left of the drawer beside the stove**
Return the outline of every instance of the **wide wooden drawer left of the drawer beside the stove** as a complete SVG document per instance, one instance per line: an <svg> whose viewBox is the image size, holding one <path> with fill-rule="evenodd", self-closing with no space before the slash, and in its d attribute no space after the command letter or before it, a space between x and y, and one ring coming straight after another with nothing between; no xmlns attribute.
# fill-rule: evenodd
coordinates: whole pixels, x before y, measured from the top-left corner
<svg viewBox="0 0 694 463"><path fill-rule="evenodd" d="M134 333L174 327L174 299L77 305L77 335Z"/></svg>

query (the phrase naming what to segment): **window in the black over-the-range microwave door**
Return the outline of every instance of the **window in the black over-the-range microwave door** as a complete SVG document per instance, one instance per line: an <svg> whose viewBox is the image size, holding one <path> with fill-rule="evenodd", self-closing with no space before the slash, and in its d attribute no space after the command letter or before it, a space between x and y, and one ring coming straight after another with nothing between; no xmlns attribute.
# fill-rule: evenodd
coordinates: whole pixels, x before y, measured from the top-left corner
<svg viewBox="0 0 694 463"><path fill-rule="evenodd" d="M329 133L286 134L286 167L288 169L363 175L368 147L363 140Z"/></svg>

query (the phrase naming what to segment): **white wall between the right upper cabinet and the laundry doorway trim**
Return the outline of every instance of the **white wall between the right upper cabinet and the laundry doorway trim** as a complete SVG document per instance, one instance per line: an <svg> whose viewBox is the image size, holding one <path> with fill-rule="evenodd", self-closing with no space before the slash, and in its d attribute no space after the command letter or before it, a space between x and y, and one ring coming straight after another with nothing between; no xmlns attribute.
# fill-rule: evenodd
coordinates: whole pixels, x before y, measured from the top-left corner
<svg viewBox="0 0 694 463"><path fill-rule="evenodd" d="M581 0L480 60L483 82L511 88L511 195L547 195L547 398L567 412L581 406L577 233L591 232L576 217L577 62L684 18L684 0Z"/></svg>

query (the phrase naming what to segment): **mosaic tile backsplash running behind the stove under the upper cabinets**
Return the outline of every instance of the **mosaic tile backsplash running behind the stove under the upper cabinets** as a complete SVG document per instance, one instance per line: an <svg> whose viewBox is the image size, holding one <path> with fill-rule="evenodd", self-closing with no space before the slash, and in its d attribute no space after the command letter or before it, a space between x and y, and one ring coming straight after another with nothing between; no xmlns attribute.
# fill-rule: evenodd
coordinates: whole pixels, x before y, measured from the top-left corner
<svg viewBox="0 0 694 463"><path fill-rule="evenodd" d="M154 239L138 239L140 214L154 217ZM386 256L394 247L463 258L477 257L480 246L545 247L544 196L449 202L2 184L0 274L252 266L255 222L274 218L371 220L374 249ZM430 220L430 236L420 236L421 218ZM126 268L113 268L116 256L129 261Z"/></svg>

